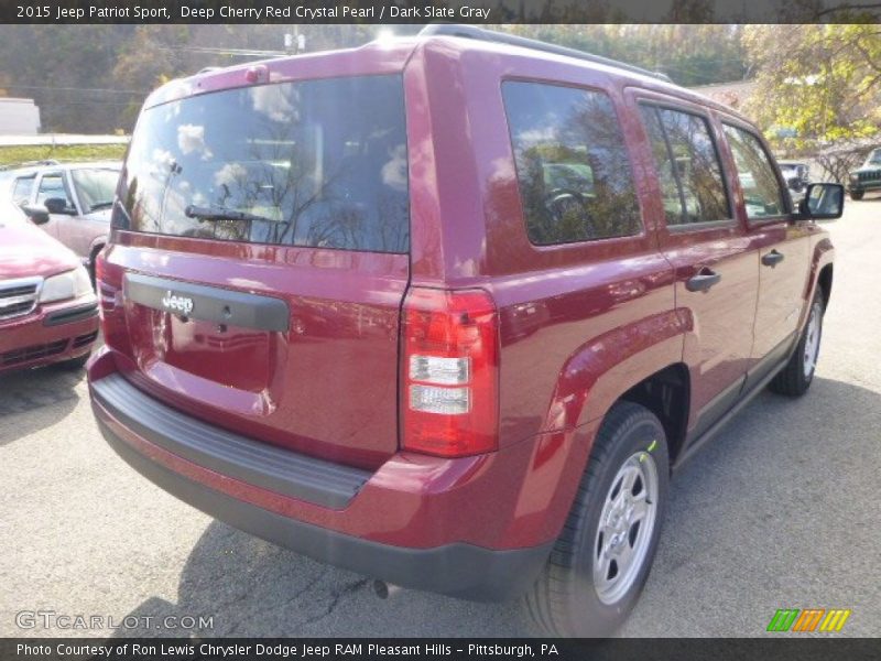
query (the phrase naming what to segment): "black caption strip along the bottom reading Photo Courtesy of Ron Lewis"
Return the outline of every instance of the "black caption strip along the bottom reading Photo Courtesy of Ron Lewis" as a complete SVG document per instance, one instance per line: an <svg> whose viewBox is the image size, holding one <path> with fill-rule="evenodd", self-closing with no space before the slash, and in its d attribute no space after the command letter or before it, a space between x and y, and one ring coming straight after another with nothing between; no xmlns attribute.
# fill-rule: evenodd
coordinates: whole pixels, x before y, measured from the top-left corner
<svg viewBox="0 0 881 661"><path fill-rule="evenodd" d="M43 648L48 654L17 652L18 646ZM339 646L339 647L338 647ZM93 649L93 654L70 652ZM100 648L100 652L97 651ZM62 661L102 659L146 661L148 659L347 659L499 661L868 661L878 658L879 640L870 638L6 638L0 639L0 658L6 660ZM306 653L306 650L311 653ZM61 651L59 651L61 650ZM138 650L138 651L134 651ZM171 651L173 650L173 651ZM222 652L219 650L224 650ZM381 652L379 650L385 650ZM396 650L396 651L392 651ZM401 653L401 651L407 652Z"/></svg>

